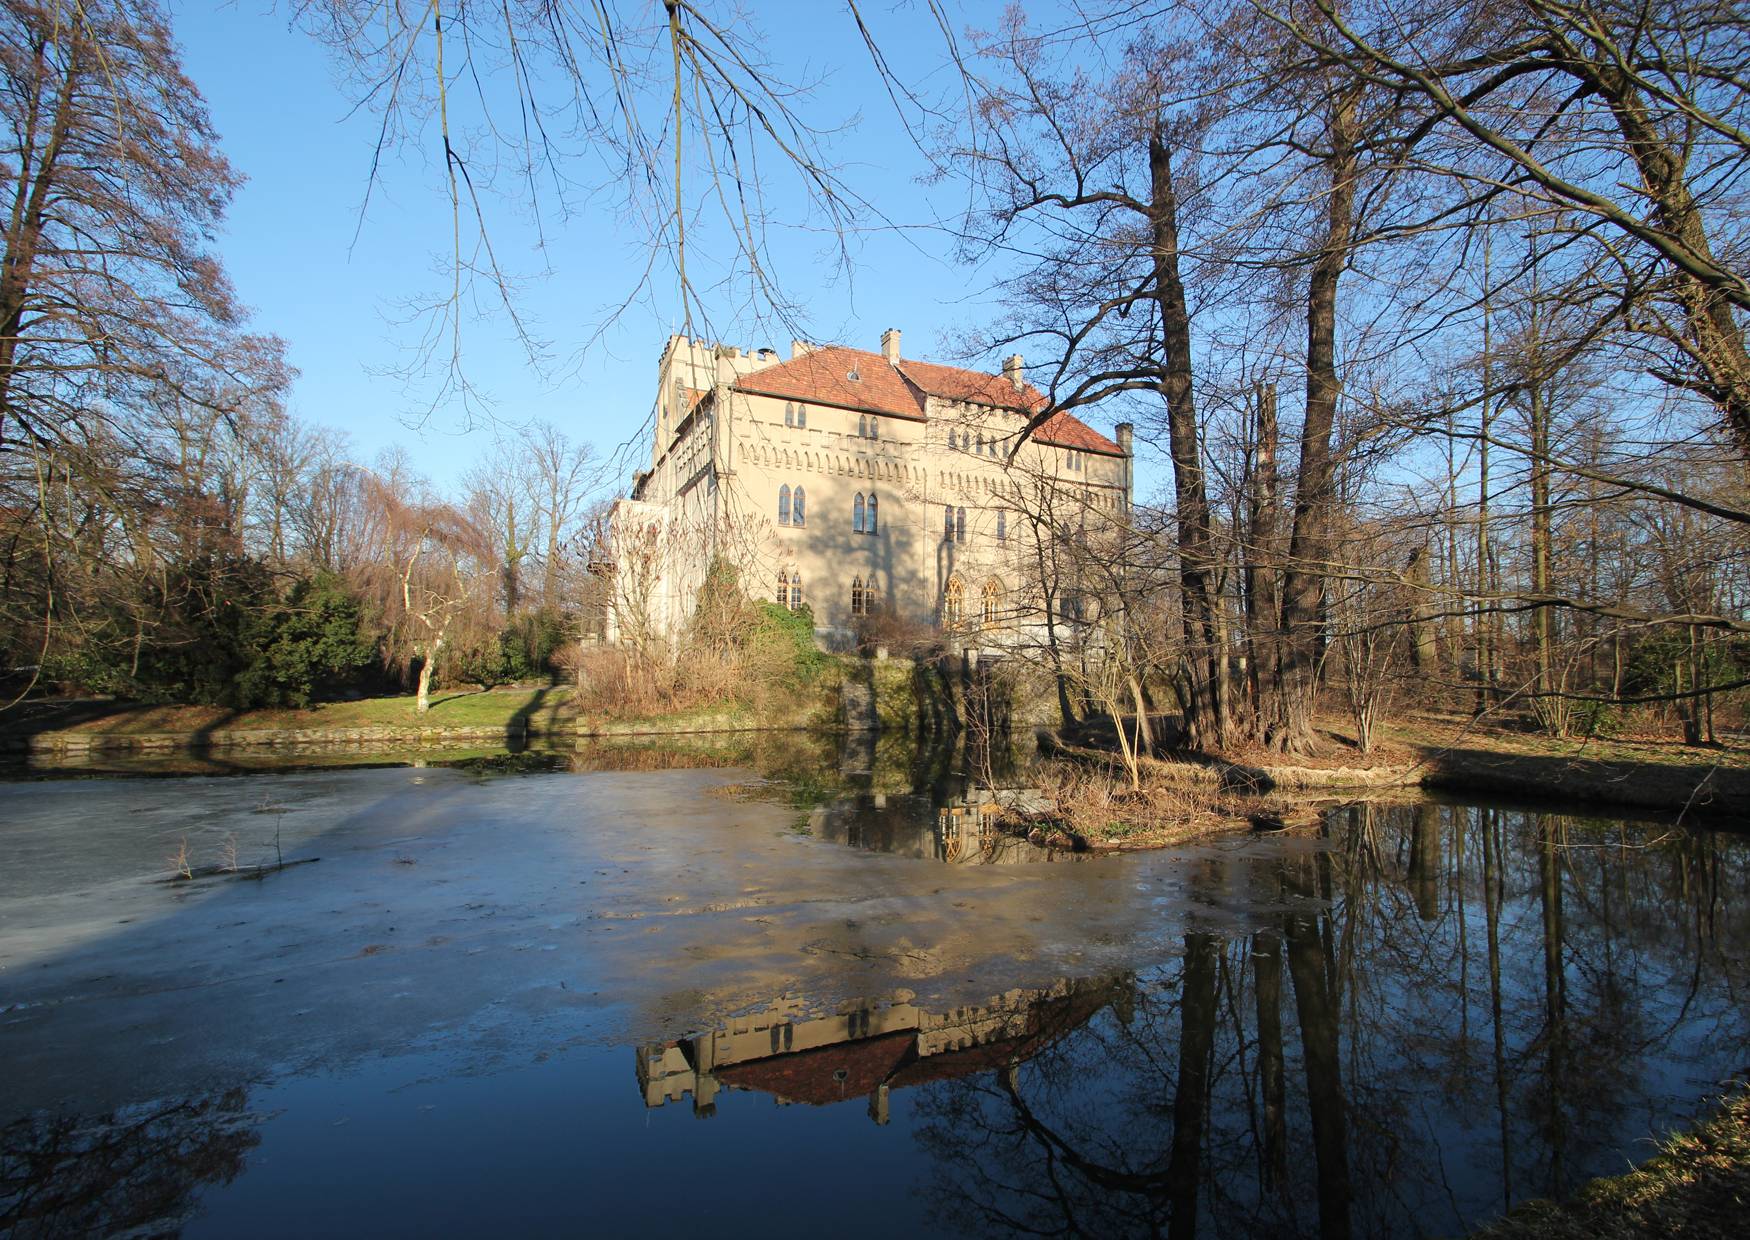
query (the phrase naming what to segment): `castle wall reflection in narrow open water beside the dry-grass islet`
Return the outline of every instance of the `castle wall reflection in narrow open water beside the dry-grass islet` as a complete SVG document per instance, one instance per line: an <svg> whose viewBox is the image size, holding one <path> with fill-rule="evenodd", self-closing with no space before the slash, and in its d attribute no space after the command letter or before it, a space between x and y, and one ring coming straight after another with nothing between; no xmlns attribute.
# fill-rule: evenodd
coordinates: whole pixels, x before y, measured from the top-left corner
<svg viewBox="0 0 1750 1240"><path fill-rule="evenodd" d="M1087 859L1087 853L1040 848L1006 834L998 827L1001 808L999 799L978 801L973 796L942 803L942 798L924 794L875 792L816 806L808 815L808 831L817 839L847 848L952 864L1015 866Z"/></svg>

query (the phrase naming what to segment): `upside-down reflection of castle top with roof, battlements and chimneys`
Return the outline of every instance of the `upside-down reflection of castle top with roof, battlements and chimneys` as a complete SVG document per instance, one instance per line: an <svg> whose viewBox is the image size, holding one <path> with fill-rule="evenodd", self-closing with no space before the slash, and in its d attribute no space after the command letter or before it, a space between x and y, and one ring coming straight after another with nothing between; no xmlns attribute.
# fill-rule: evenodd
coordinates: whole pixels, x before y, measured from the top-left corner
<svg viewBox="0 0 1750 1240"><path fill-rule="evenodd" d="M646 1107L693 1095L702 1118L719 1091L754 1090L814 1107L868 1098L870 1118L887 1123L891 1090L1020 1063L1106 1006L1127 1014L1130 997L1129 978L1060 979L943 1013L863 1000L807 1016L805 1000L784 997L709 1034L639 1048L639 1086Z"/></svg>

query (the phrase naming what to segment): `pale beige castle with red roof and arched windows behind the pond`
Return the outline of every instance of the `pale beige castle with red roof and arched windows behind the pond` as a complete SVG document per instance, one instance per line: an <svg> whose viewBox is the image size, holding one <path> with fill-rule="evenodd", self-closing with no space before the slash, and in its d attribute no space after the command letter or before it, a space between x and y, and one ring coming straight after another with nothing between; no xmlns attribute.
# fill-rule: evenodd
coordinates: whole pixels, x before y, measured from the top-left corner
<svg viewBox="0 0 1750 1240"><path fill-rule="evenodd" d="M849 644L891 616L1001 644L1055 607L1045 540L1129 514L1130 427L1057 413L1010 357L999 374L794 341L789 359L674 336L658 362L649 467L614 507L611 637L674 638L714 563ZM1048 575L1048 570L1046 570Z"/></svg>

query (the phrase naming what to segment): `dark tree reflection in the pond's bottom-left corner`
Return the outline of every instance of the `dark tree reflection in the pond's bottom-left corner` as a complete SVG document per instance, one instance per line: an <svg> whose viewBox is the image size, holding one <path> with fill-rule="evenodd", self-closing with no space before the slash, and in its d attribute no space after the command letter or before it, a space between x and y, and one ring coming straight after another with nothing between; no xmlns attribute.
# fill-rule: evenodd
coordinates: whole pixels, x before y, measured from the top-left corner
<svg viewBox="0 0 1750 1240"><path fill-rule="evenodd" d="M203 1184L228 1184L261 1140L243 1090L0 1130L0 1233L175 1233Z"/></svg>

